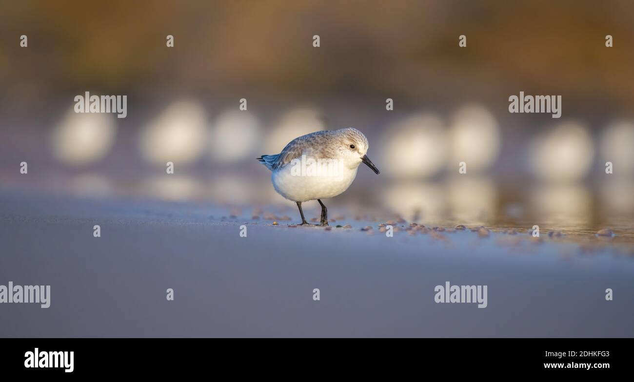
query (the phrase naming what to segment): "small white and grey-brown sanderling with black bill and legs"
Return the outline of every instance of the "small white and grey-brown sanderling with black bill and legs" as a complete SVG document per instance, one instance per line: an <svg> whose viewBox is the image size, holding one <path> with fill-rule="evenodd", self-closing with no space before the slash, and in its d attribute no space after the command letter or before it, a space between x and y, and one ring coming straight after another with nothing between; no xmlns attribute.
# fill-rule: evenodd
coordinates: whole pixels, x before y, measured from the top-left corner
<svg viewBox="0 0 634 382"><path fill-rule="evenodd" d="M304 219L302 203L317 200L321 205L321 225L328 226L328 210L321 199L346 191L356 177L359 164L378 169L365 153L368 139L351 127L336 131L317 131L290 141L279 154L257 158L273 172L273 187L281 196L297 203Z"/></svg>

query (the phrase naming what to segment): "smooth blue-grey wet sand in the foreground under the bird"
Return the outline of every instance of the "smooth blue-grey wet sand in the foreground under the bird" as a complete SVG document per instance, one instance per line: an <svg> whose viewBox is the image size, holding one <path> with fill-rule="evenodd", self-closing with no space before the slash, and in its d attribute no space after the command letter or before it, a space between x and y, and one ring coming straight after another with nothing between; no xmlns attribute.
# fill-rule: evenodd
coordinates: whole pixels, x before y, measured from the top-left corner
<svg viewBox="0 0 634 382"><path fill-rule="evenodd" d="M48 309L0 304L0 336L634 336L619 236L403 222L387 238L385 222L326 230L264 213L0 193L0 284L51 285ZM446 281L487 285L487 307L434 302Z"/></svg>

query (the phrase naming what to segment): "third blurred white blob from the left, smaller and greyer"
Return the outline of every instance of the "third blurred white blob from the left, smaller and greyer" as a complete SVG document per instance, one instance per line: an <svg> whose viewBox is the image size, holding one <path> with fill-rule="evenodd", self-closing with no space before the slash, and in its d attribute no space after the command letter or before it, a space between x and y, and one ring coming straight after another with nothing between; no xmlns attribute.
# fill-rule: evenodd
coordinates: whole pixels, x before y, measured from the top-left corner
<svg viewBox="0 0 634 382"><path fill-rule="evenodd" d="M214 162L238 162L253 156L259 140L260 124L256 117L248 111L227 110L212 127L209 155Z"/></svg>

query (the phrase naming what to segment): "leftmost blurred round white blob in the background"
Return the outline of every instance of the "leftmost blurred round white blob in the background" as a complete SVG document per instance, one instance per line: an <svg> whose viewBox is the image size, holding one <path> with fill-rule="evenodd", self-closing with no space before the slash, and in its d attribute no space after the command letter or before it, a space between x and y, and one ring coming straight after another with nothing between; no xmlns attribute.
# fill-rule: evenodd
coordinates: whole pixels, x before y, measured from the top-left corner
<svg viewBox="0 0 634 382"><path fill-rule="evenodd" d="M105 157L115 141L113 117L107 113L68 111L53 130L53 156L67 165L81 166Z"/></svg>

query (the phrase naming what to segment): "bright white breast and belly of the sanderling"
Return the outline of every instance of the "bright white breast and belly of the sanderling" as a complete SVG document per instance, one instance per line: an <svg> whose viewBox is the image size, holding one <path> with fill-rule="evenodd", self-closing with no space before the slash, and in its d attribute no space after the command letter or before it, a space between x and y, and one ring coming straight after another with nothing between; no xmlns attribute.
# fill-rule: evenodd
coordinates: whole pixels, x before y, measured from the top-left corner
<svg viewBox="0 0 634 382"><path fill-rule="evenodd" d="M343 168L337 174L297 175L292 166L273 171L271 181L281 196L292 201L327 199L346 191L354 181L358 167Z"/></svg>

